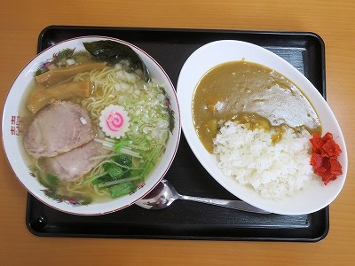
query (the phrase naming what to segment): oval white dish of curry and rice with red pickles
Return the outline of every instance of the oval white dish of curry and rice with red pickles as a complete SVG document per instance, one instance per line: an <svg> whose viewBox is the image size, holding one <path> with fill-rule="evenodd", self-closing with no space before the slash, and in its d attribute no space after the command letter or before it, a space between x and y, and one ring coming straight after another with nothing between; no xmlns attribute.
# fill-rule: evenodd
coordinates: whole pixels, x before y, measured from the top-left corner
<svg viewBox="0 0 355 266"><path fill-rule="evenodd" d="M235 97L235 88L242 87L241 80L248 83L248 75L243 76L241 74L237 78L234 78L233 85L224 85L226 87L225 89L218 88L216 85L218 82L223 82L220 80L224 80L224 78L221 78L222 75L218 75L218 73L222 73L218 72L218 69L222 69L227 65L231 65L232 69L234 67L232 64L256 67L255 69L259 70L252 71L254 78L262 76L261 73L264 73L264 69L267 69L266 73L268 76L280 75L280 79L283 79L283 82L278 83L277 88L270 87L263 89L264 98L244 98L244 94L250 93L250 91L251 94L253 94L253 88L247 87L245 90L238 89L240 95ZM250 69L252 69L252 67ZM238 74L237 72L239 70L229 71L231 75L233 75ZM209 79L208 76L210 77L213 73L215 76ZM261 80L253 84L258 84L257 86L260 85L261 88L264 86L264 83L264 80ZM289 93L290 90L282 88L282 83L292 84L292 86L296 88L295 91L297 90L298 92L292 90L292 93ZM274 98L271 94L267 95L268 92L264 92L266 90L272 91L275 88L281 91L278 96L279 98ZM231 91L228 92L230 95L225 98L235 97L238 99L232 102L232 104L231 102L227 103L218 99L221 95L221 90ZM289 126L287 118L282 121L280 120L281 122L277 125L272 124L273 121L271 117L277 116L277 113L272 113L276 112L272 109L279 110L279 113L282 113L282 110L286 110L285 113L289 112L291 116L296 115L296 113L301 113L299 116L301 118L303 117L303 106L297 106L296 109L291 108L294 102L292 97L294 97L295 93L298 93L299 98L302 98L302 101L307 103L306 105L314 111L314 119L319 121L319 127L313 131L318 130L319 134L313 132L308 127L304 127L304 124ZM289 97L291 97L290 101L283 103L283 98L288 98L288 94L290 95ZM201 95L205 97L202 97L202 100ZM181 108L182 129L188 145L190 145L194 155L201 162L201 165L209 172L209 175L237 198L275 214L304 215L327 207L327 205L335 200L339 192L341 192L346 178L348 159L342 130L335 118L335 114L327 105L325 99L322 98L319 91L312 85L312 82L294 66L272 53L272 51L268 51L252 43L232 40L207 43L194 51L185 61L185 65L182 67L178 77L177 98ZM274 98L274 100L272 100L272 98ZM241 109L240 112L235 106L239 105L241 102L243 103L241 105L243 109ZM248 109L246 107L244 112L245 106L254 106L255 109ZM288 106L290 107L289 110L293 111L287 111ZM202 114L198 114L196 111L199 108L202 110ZM268 117L266 117L267 115L264 112L266 108L268 109L267 112L269 112ZM230 115L229 118L223 120L217 116L219 115L219 110L235 113L233 117L232 114L228 114ZM210 116L214 117L214 119L200 121L200 117L203 117L206 113L210 113ZM243 118L241 118L243 115L248 119L243 121ZM309 113L306 113L305 116L311 117ZM260 120L258 120L258 117L260 117ZM254 125L267 124L267 127L265 126L267 129L263 127L262 129L256 129L253 128L253 125L250 126L249 119L255 121L255 118L256 123L254 123ZM227 121L230 123L227 123ZM264 121L266 122L264 123ZM216 132L214 132L215 129ZM210 134L208 139L209 146L206 145L206 140L202 136L205 134L201 133L202 130ZM255 132L258 134L256 134L257 136ZM281 132L279 134L280 136L275 132ZM327 134L327 132L331 133L331 135ZM288 133L292 136L289 140ZM320 159L320 152L318 153L318 148L313 145L315 143L315 136L319 136L319 139L322 140L323 138L321 137L325 135L327 137L332 136L332 141L335 141L336 150L342 151L340 155L338 153L336 154L336 165L338 169L333 171L332 168L331 171L337 172L337 175L336 178L333 178L335 180L330 182L325 181L314 173L317 172L317 169L317 173L319 173L320 167L315 166L315 158L322 160L324 164L321 166L324 167L326 163L329 165L328 160L333 156L329 155L330 157L328 156L328 158L322 153L324 158ZM273 139L271 136L276 136L276 138ZM269 138L272 138L272 140ZM268 145L264 145L265 139L268 139ZM301 143L304 146L300 148L299 153L288 153L288 150L293 151L292 149L294 148L298 149L299 147L296 148L296 146L299 146ZM280 147L280 145L286 146ZM244 147L244 150L241 151L241 147ZM265 153L259 153L258 147L262 147ZM276 147L277 152L274 150ZM271 150L272 153L270 152ZM260 154L264 154L264 157ZM302 154L302 156L299 154ZM327 159L325 159L326 157ZM260 168L260 165L264 165L266 161L267 163L265 164L269 163L271 167ZM282 166L280 166L281 163ZM257 165L257 167L252 165ZM293 168L291 168L291 166ZM278 175L283 179L272 179L274 178L274 173L278 171ZM282 176L280 174L285 171L288 174L291 173L289 176L294 176L297 181L293 181L291 178L287 179L285 176L288 175ZM245 172L251 174L245 177ZM299 173L302 173L302 176ZM247 178L250 179L246 180ZM285 178L287 179L286 181L284 180ZM292 187L292 190L294 191L286 193L285 195L281 193L282 195L280 197L278 196L280 187L282 187L283 190L284 186L287 186L289 183L296 183L300 178L304 178L304 180L307 179L307 181L304 181L304 185L301 186L298 185L298 183L293 184L295 189ZM274 184L270 193L265 192L271 188L269 184ZM267 189L264 189L265 187L267 187Z"/></svg>

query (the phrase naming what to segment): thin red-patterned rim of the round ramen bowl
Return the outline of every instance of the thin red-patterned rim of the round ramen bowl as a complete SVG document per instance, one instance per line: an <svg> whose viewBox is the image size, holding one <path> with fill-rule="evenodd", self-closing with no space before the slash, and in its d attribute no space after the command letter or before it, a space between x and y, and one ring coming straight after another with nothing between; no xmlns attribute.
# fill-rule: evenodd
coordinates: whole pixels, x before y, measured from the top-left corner
<svg viewBox="0 0 355 266"><path fill-rule="evenodd" d="M10 146L5 143L5 138L7 136L6 135L7 133L5 133L4 128L5 128L5 119L6 119L5 114L6 114L6 112L9 109L9 107L8 107L8 104L9 104L8 103L8 99L9 99L11 93L13 92L14 85L19 81L20 76L25 74L25 70L26 71L31 70L31 72L33 72L34 68L36 68L36 66L35 66L36 65L36 60L39 59L41 56L45 55L46 53L49 53L52 50L59 49L59 46L61 46L63 44L66 44L66 43L73 43L73 45L78 45L79 43L76 43L76 42L80 42L81 40L86 40L86 39L94 39L94 40L97 40L97 41L99 41L99 40L112 40L112 41L117 42L117 43L123 43L123 44L126 44L126 45L130 46L130 48L132 48L136 52L138 51L140 53L139 54L140 57L142 55L144 55L148 60L150 60L154 64L154 66L158 67L159 71L162 73L162 75L166 79L166 82L168 82L168 84L166 84L165 86L170 87L170 92L171 92L170 98L175 99L174 100L174 104L176 105L176 110L174 110L174 112L176 113L176 116L175 116L175 118L176 118L176 120L175 120L176 130L175 130L175 132L177 132L177 135L176 135L176 137L174 137L174 138L176 138L176 142L173 145L173 151L170 154L170 160L167 163L167 165L164 168L164 170L162 171L160 177L156 180L156 182L154 183L153 186L151 186L146 192L144 192L142 195L140 195L137 199L130 200L130 203L125 204L125 205L123 205L121 207L106 207L106 209L104 211L99 211L99 210L95 211L96 208L94 208L91 211L84 211L84 210L83 211L77 211L77 210L75 211L75 206L70 205L70 207L68 207L69 204L66 204L65 207L61 208L64 205L61 205L60 207L57 207L57 206L54 205L54 201L55 200L52 200L52 199L48 200L44 194L41 194L41 196L37 195L36 192L35 192L35 189L31 190L28 187L28 185L26 185L23 182L22 177L20 177L18 175L18 173L16 172L14 166L12 166L12 162L9 159L9 156L8 156L8 153L7 153L7 149ZM59 49L59 51L60 51L60 49ZM82 50L80 50L80 51L82 51ZM51 54L48 54L48 58L50 58L50 57L51 57ZM39 62L43 62L43 60L40 60ZM30 68L33 68L33 69L30 69ZM22 98L20 98L18 101L20 101L21 99ZM16 112L18 113L19 111L16 110ZM67 213L67 214L70 214L70 215L89 215L89 216L90 215L106 215L106 214L114 213L114 212L119 211L119 210L121 210L123 208L126 208L126 207L129 207L129 206L133 205L135 202L137 202L141 198L145 197L146 194L151 192L154 189L154 187L162 181L162 178L169 171L170 166L171 166L173 160L175 159L175 157L177 155L177 148L179 146L180 137L181 137L181 129L182 129L181 116L180 115L181 115L181 110L180 110L180 106L179 106L179 103L178 103L178 100L177 100L177 90L176 90L174 84L171 82L170 76L165 72L165 70L162 68L162 66L148 52L146 52L145 50L141 49L140 47L138 47L137 45L135 45L133 43L129 43L127 41L124 41L122 39L115 38L115 37L104 36L104 35L76 36L76 37L73 37L73 38L69 38L69 39L60 41L58 43L54 43L53 45L51 45L50 47L44 49L43 51L38 52L36 54L36 56L34 56L34 57L32 57L32 59L28 60L27 64L20 69L20 71L18 72L16 77L13 79L12 84L10 86L10 89L7 91L6 96L4 98L4 106L3 106L3 110L2 110L2 127L1 127L1 130L3 131L3 134L2 134L1 138L2 138L2 144L3 144L3 151L4 151L4 154L5 154L6 160L8 161L9 166L10 166L10 168L12 170L13 175L16 176L16 178L18 179L20 184L26 189L26 191L29 194L31 194L34 198L36 198L36 200L41 201L43 204L45 204L48 207L51 207L51 208L56 209L56 210L58 210L60 212ZM169 143L170 139L173 138L171 135L172 134L170 134L170 138L168 140L168 143ZM16 141L18 141L18 140L16 140ZM22 157L21 157L21 160L23 160ZM161 160L162 160L162 158L161 158ZM36 180L36 182L39 184L39 182L37 180ZM42 184L41 184L41 186L42 186ZM43 187L43 188L45 189L45 187ZM119 200L119 199L120 198L109 200L109 202L113 202L113 201ZM91 205L89 205L89 206L91 206ZM69 209L73 209L73 211L69 210Z"/></svg>

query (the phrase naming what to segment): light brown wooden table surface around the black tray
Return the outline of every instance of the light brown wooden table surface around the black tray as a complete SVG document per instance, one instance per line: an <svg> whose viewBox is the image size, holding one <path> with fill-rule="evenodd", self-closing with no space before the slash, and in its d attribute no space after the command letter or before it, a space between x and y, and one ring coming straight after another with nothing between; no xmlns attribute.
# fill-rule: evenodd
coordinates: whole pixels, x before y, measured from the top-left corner
<svg viewBox="0 0 355 266"><path fill-rule="evenodd" d="M345 137L349 169L330 205L330 230L318 243L147 239L39 238L25 224L27 192L0 152L0 265L270 265L349 264L355 260L355 148L353 90L355 2L339 1L43 1L12 0L0 9L0 102L36 55L50 25L311 31L326 43L327 102Z"/></svg>

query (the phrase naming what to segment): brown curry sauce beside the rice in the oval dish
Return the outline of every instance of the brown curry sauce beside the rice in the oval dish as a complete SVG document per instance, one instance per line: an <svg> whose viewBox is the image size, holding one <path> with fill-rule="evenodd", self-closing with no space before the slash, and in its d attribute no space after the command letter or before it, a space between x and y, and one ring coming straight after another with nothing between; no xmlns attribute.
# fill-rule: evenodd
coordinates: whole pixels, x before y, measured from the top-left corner
<svg viewBox="0 0 355 266"><path fill-rule="evenodd" d="M269 67L244 60L210 69L196 86L192 111L194 127L209 153L225 121L264 129L287 124L321 132L312 104L293 82Z"/></svg>

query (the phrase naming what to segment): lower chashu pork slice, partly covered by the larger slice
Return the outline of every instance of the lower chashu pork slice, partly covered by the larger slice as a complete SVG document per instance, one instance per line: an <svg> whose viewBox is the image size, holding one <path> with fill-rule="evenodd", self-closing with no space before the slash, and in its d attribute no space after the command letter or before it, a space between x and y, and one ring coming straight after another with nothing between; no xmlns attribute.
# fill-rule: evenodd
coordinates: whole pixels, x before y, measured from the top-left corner
<svg viewBox="0 0 355 266"><path fill-rule="evenodd" d="M103 159L91 160L92 157L111 153L95 140L70 152L55 157L43 158L44 167L51 175L58 176L63 182L73 182L89 173Z"/></svg>

